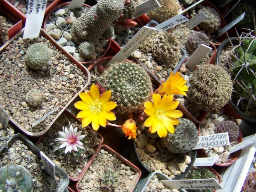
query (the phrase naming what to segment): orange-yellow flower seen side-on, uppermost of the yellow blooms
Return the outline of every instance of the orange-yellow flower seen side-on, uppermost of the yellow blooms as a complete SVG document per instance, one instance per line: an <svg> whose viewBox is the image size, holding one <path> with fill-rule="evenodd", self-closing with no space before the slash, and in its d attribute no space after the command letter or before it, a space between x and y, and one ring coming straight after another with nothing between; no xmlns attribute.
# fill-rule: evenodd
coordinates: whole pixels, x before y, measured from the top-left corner
<svg viewBox="0 0 256 192"><path fill-rule="evenodd" d="M160 95L185 95L187 96L186 92L188 87L186 84L186 80L181 76L180 73L175 73L173 75L173 71L171 75L167 79L166 82L162 81L162 84L158 88L158 93Z"/></svg>

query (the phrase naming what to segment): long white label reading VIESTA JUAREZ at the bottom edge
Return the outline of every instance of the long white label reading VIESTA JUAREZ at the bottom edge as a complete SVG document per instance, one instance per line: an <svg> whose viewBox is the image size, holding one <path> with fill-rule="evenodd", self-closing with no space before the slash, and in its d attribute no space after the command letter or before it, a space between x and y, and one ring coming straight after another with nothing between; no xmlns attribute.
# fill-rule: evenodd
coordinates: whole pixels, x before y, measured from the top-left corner
<svg viewBox="0 0 256 192"><path fill-rule="evenodd" d="M164 185L170 189L177 190L202 190L209 189L219 190L223 189L216 179L185 179L185 180L161 180Z"/></svg>

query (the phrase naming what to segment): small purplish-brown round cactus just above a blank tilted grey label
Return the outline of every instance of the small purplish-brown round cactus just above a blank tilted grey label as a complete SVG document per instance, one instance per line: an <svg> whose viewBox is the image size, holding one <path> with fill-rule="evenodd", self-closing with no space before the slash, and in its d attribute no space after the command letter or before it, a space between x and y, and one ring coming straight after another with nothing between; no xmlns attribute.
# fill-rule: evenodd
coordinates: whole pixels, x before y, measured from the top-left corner
<svg viewBox="0 0 256 192"><path fill-rule="evenodd" d="M185 44L186 50L190 53L193 53L201 43L208 46L210 40L205 33L196 31L187 38L187 42Z"/></svg>

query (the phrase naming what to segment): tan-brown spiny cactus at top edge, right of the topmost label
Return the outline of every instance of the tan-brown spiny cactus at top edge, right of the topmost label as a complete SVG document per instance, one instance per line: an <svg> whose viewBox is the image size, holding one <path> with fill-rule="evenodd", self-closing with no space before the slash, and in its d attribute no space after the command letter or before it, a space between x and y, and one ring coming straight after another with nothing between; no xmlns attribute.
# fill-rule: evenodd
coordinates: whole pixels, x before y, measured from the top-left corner
<svg viewBox="0 0 256 192"><path fill-rule="evenodd" d="M176 0L159 0L158 2L160 3L161 7L154 9L147 14L150 19L156 20L158 23L162 23L174 17L181 9L181 6Z"/></svg>

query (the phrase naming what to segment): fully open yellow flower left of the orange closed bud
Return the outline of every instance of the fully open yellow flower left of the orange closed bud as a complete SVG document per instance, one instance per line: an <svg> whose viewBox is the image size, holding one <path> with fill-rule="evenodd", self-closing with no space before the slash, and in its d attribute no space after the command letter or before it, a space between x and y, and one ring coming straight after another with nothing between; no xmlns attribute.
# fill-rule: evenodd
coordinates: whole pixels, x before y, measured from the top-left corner
<svg viewBox="0 0 256 192"><path fill-rule="evenodd" d="M100 97L99 88L93 84L90 91L79 93L79 97L82 101L76 102L74 106L82 110L76 117L81 118L83 127L92 123L92 128L97 131L100 125L106 127L107 120L116 120L115 114L111 112L116 103L109 101L111 90L105 91Z"/></svg>

